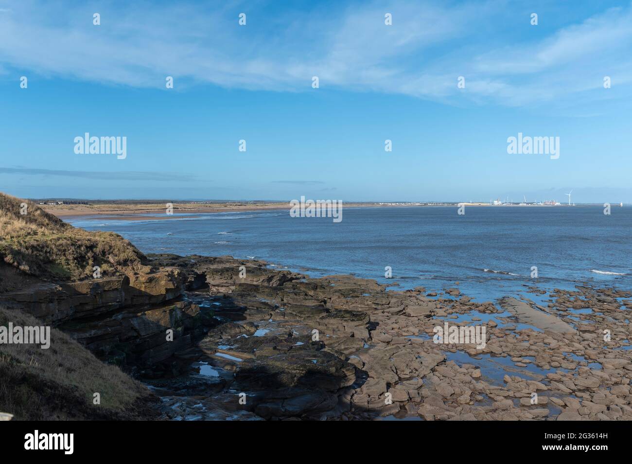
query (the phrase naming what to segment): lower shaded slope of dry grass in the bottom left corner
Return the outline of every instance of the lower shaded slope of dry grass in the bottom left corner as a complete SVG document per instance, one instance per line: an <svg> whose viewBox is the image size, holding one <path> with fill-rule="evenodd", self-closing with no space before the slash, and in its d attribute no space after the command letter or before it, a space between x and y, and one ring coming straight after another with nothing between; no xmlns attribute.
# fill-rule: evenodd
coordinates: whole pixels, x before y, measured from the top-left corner
<svg viewBox="0 0 632 464"><path fill-rule="evenodd" d="M41 326L0 307L0 326ZM100 405L93 394L100 393ZM76 341L51 329L51 346L0 345L0 411L22 420L134 419L152 417L147 388L118 367L100 362Z"/></svg>

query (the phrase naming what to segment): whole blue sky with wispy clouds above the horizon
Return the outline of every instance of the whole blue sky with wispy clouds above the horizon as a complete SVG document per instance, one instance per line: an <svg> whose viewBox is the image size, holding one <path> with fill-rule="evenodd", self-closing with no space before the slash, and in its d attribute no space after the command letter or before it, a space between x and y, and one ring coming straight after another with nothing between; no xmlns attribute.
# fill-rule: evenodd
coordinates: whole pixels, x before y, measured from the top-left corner
<svg viewBox="0 0 632 464"><path fill-rule="evenodd" d="M0 191L632 202L631 84L629 1L0 1Z"/></svg>

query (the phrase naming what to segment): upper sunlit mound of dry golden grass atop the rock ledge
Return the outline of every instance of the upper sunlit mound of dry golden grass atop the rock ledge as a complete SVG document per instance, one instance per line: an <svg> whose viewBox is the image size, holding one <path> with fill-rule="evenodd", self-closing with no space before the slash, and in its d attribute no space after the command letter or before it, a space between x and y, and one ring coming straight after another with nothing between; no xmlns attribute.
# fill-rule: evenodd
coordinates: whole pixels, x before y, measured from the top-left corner
<svg viewBox="0 0 632 464"><path fill-rule="evenodd" d="M27 214L20 214L27 204ZM145 255L118 234L66 224L28 200L0 193L0 259L43 279L91 278L138 271Z"/></svg>

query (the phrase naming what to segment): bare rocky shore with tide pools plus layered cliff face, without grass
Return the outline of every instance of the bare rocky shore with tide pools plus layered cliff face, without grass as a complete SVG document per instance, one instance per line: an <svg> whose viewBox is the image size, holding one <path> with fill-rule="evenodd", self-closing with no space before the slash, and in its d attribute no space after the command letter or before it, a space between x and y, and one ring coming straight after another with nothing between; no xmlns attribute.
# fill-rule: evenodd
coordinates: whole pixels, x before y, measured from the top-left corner
<svg viewBox="0 0 632 464"><path fill-rule="evenodd" d="M148 258L159 271L3 298L142 379L164 418L632 418L629 291L496 305L255 260ZM445 322L485 325L486 345L434 343Z"/></svg>

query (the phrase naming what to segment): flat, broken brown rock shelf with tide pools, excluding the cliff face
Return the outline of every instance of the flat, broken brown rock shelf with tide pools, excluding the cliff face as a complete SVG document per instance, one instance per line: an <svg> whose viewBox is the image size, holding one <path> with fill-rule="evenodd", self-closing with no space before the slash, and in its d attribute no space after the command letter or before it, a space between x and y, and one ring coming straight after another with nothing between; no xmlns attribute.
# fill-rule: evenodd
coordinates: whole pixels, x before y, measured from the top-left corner
<svg viewBox="0 0 632 464"><path fill-rule="evenodd" d="M153 384L171 418L632 418L630 292L556 290L549 307L506 298L499 308L456 288L432 298L423 288L387 291L352 276L310 279L258 266L250 280L246 267L242 283L238 266L253 262L218 269L194 260L166 264L206 276L209 293L187 297L210 302L221 324L187 353L199 374L175 379L176 389ZM487 345L434 343L444 321L484 321Z"/></svg>

